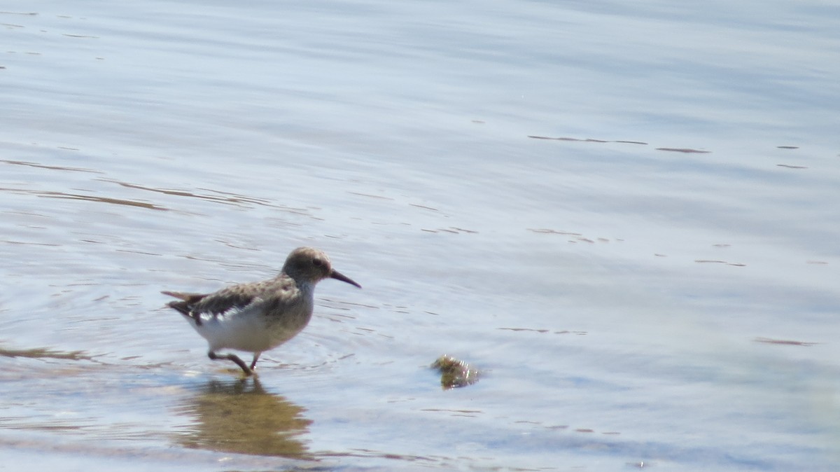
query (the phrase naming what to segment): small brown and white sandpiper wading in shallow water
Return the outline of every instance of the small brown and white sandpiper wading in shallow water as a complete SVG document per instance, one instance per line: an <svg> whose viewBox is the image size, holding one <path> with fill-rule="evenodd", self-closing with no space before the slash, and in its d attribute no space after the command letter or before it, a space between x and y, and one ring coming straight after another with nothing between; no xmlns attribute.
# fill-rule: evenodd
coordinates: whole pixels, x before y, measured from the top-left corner
<svg viewBox="0 0 840 472"><path fill-rule="evenodd" d="M254 373L260 354L294 338L312 318L315 284L338 279L362 288L333 270L327 254L312 248L297 248L286 258L283 270L268 281L228 286L213 293L162 293L181 299L167 304L184 316L192 328L207 339L210 359L228 359ZM236 354L216 354L219 349L254 353L251 364Z"/></svg>

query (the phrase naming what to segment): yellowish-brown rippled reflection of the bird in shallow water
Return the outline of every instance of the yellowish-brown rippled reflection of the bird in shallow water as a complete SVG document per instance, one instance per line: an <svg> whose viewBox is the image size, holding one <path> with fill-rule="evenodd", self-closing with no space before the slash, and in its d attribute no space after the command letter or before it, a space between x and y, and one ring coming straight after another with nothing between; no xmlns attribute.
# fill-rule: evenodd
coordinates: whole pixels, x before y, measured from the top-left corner
<svg viewBox="0 0 840 472"><path fill-rule="evenodd" d="M312 424L303 412L283 396L263 390L256 377L211 380L179 408L195 424L176 441L186 448L312 459L299 439Z"/></svg>

